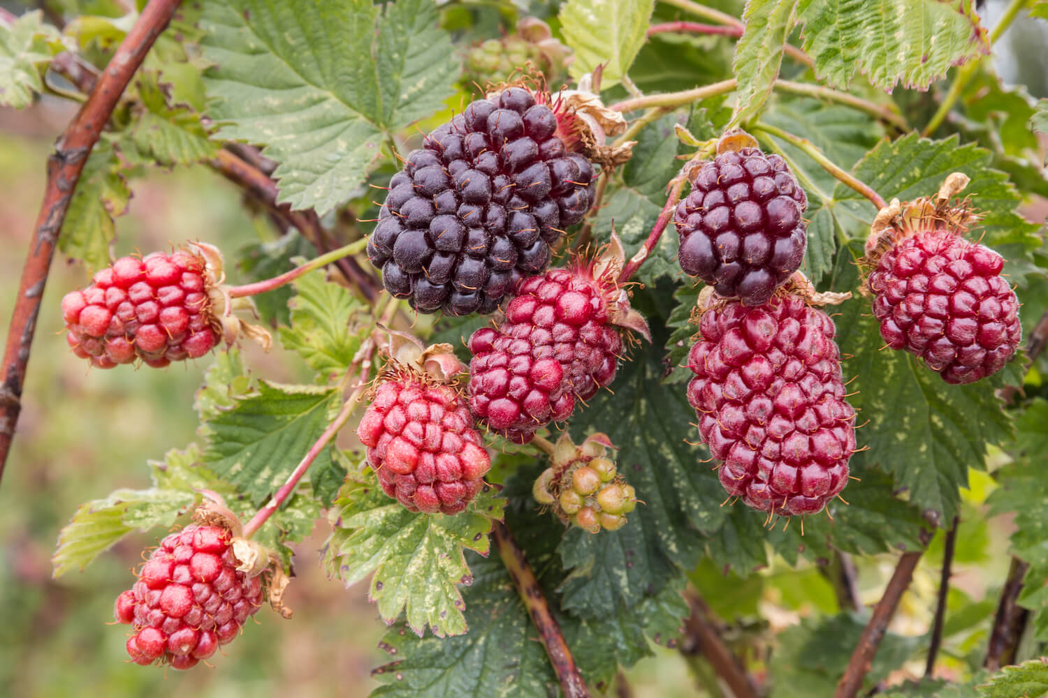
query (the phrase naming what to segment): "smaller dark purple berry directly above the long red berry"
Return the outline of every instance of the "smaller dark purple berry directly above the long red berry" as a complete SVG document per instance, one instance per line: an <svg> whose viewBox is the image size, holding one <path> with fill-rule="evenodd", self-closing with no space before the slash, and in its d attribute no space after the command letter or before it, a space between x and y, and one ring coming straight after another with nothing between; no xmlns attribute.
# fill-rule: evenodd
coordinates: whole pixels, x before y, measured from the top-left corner
<svg viewBox="0 0 1048 698"><path fill-rule="evenodd" d="M721 296L760 306L801 267L808 199L778 155L744 148L718 155L677 204L677 258Z"/></svg>

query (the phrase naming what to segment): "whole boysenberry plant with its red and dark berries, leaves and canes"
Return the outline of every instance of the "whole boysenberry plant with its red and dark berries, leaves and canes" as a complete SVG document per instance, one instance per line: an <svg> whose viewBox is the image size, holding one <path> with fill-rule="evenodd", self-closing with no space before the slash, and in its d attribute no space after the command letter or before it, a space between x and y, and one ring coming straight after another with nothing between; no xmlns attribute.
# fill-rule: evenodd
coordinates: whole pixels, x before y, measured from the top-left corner
<svg viewBox="0 0 1048 698"><path fill-rule="evenodd" d="M145 545L127 671L222 672L320 564L376 696L1046 695L1048 100L991 59L1046 0L36 4L0 107L75 110L0 475L35 344L208 366L197 438L54 532L54 577ZM270 240L117 234L193 165Z"/></svg>

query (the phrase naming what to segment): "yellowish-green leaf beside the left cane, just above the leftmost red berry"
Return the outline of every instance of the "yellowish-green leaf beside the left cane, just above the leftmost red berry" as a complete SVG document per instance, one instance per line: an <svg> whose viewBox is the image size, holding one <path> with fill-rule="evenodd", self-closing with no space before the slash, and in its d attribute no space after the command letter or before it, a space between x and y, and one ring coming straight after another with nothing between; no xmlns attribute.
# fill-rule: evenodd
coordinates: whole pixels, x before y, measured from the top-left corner
<svg viewBox="0 0 1048 698"><path fill-rule="evenodd" d="M116 237L113 218L127 211L131 192L119 161L106 140L95 143L77 182L59 237L59 249L83 260L90 269L109 265L109 243Z"/></svg>

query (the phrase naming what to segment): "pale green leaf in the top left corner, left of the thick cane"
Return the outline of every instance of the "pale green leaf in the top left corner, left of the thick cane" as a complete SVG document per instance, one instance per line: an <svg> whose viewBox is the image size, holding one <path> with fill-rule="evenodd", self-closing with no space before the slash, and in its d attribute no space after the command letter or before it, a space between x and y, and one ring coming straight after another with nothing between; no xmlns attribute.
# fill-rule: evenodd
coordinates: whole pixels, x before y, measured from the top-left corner
<svg viewBox="0 0 1048 698"><path fill-rule="evenodd" d="M67 46L39 9L8 24L0 20L0 107L24 109L43 92L41 69ZM643 36L641 33L641 36Z"/></svg>

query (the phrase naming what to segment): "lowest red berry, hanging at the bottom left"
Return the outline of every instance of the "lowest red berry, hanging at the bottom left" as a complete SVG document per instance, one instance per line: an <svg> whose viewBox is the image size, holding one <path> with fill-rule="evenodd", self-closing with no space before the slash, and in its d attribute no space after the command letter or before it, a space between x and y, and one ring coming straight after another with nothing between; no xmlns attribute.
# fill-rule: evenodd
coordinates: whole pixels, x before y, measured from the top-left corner
<svg viewBox="0 0 1048 698"><path fill-rule="evenodd" d="M139 665L161 659L190 669L236 637L262 605L262 580L237 570L230 532L191 524L165 538L116 598L113 615L134 627L127 641Z"/></svg>

